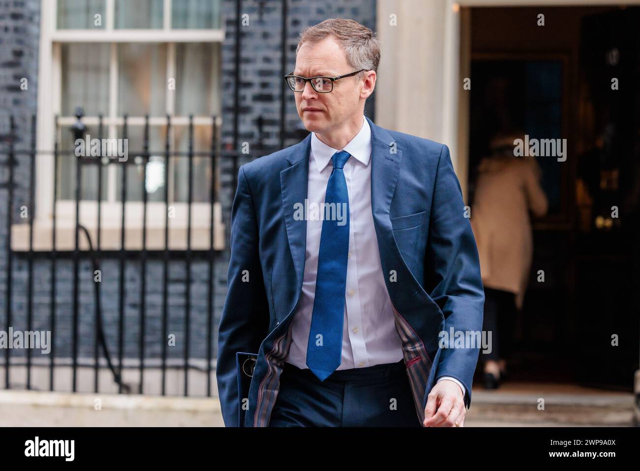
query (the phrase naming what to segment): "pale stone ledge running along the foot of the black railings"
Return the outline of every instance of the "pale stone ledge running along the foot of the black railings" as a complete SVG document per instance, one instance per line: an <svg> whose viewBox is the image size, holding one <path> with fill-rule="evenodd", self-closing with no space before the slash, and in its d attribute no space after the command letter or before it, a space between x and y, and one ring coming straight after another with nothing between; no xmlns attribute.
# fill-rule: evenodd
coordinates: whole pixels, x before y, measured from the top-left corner
<svg viewBox="0 0 640 471"><path fill-rule="evenodd" d="M185 411L220 413L217 397L162 397L140 394L63 393L24 390L0 390L0 406L49 406L63 408L91 408L95 399L102 400L102 409L133 409L156 411Z"/></svg>

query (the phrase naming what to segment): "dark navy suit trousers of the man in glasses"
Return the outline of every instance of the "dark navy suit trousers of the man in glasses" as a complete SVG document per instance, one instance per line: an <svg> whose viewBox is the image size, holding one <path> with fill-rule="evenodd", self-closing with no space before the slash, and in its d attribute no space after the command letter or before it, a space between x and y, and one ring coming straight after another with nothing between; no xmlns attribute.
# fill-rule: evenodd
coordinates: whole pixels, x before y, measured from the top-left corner
<svg viewBox="0 0 640 471"><path fill-rule="evenodd" d="M422 427L404 360L320 381L285 361L269 427Z"/></svg>

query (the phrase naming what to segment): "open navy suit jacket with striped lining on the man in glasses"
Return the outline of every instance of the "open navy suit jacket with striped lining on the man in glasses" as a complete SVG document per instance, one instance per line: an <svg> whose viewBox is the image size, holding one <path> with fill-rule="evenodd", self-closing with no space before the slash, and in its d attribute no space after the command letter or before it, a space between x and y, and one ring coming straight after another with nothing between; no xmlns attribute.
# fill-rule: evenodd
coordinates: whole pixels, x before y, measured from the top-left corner
<svg viewBox="0 0 640 471"><path fill-rule="evenodd" d="M424 419L427 395L440 376L465 385L468 408L480 345L438 345L438 334L451 327L476 333L483 326L476 240L449 148L366 119L371 210L417 415ZM278 395L301 297L307 221L294 219L294 204L307 197L310 143L311 134L238 171L216 367L226 426L268 426ZM258 354L248 397L238 397L236 352ZM239 407L246 411L244 424L238 423Z"/></svg>

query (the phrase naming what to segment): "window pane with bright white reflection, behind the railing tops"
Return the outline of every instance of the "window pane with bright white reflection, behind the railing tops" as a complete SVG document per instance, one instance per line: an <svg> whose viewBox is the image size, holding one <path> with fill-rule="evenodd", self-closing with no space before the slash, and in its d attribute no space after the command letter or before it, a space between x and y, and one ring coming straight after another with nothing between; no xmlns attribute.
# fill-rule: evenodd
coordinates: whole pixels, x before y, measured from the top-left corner
<svg viewBox="0 0 640 471"><path fill-rule="evenodd" d="M147 173L147 201L164 201L166 171L164 169L164 126L149 126L149 163L142 165L140 155L144 151L144 132L142 126L127 128L127 147L129 163L118 162L116 177L116 200L122 201L122 169L127 169L127 201L142 201ZM122 137L122 126L118 127L118 136ZM138 157L136 159L136 156ZM134 165L131 165L133 163Z"/></svg>

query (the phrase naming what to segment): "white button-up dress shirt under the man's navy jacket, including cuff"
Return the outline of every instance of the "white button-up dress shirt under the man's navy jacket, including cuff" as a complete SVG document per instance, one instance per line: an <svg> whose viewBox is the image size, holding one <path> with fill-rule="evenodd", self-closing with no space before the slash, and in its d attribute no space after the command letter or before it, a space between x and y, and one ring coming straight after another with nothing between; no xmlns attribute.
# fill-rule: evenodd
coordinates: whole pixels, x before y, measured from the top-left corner
<svg viewBox="0 0 640 471"><path fill-rule="evenodd" d="M403 359L402 342L396 331L394 312L382 272L378 238L371 210L371 127L362 117L360 132L344 146L333 149L316 133L311 135L307 205L321 207L326 185L333 170L333 154L340 150L351 156L344 164L344 178L349 193L349 254L342 329L342 363L338 370L397 363ZM306 206L306 205L305 205ZM298 310L292 319L292 342L288 363L307 367L307 344L316 293L316 276L323 220L307 218L305 272ZM307 211L305 211L305 215ZM434 365L435 367L436 365ZM455 378L442 376L465 387Z"/></svg>

